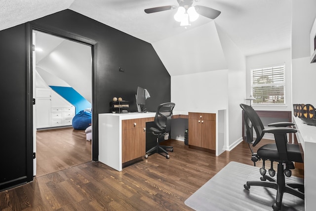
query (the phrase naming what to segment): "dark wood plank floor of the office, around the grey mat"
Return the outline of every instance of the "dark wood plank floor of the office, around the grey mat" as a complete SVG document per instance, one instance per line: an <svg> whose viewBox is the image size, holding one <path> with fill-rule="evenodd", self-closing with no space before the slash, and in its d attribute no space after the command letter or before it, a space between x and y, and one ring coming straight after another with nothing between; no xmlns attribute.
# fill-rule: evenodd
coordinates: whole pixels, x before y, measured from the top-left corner
<svg viewBox="0 0 316 211"><path fill-rule="evenodd" d="M90 161L36 177L0 192L0 210L191 211L184 201L229 162L253 165L244 142L218 157L182 141L168 144L174 147L170 159L154 154L120 172Z"/></svg>

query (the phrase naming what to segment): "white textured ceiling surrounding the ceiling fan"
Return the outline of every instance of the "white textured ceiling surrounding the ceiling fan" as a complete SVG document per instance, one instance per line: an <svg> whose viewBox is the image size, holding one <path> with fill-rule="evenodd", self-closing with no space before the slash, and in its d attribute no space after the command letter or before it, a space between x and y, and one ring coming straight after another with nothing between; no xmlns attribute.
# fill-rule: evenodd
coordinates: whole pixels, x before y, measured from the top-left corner
<svg viewBox="0 0 316 211"><path fill-rule="evenodd" d="M0 0L0 30L64 9L154 43L209 22L221 27L244 55L253 55L291 45L292 0L199 0L220 10L215 19L199 17L187 29L173 20L176 10L146 14L145 8L177 5L176 0Z"/></svg>

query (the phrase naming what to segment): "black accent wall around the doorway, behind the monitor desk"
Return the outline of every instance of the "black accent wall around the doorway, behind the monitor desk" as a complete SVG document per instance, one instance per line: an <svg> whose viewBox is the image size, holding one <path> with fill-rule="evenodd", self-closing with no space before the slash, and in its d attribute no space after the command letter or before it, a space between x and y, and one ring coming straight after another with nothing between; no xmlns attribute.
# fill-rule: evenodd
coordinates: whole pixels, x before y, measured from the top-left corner
<svg viewBox="0 0 316 211"><path fill-rule="evenodd" d="M0 190L32 181L32 74L29 67L29 41L32 26L83 37L96 42L93 73L94 143L98 144L97 114L111 111L114 96L130 101L136 111L137 86L148 89L147 110L155 111L170 101L170 75L156 51L144 42L72 10L0 31L1 137ZM119 72L118 68L125 72ZM91 79L92 80L92 79ZM93 160L98 158L98 145L93 147Z"/></svg>

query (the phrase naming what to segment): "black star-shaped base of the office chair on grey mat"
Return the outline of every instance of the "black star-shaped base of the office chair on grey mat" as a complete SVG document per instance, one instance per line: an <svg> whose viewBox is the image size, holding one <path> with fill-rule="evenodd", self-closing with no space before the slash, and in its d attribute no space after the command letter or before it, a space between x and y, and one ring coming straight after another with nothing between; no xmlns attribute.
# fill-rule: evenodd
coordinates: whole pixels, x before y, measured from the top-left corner
<svg viewBox="0 0 316 211"><path fill-rule="evenodd" d="M276 203L272 206L274 211L281 209L283 193L289 193L304 200L304 184L285 183L282 163L277 165L276 180L267 175L262 176L260 179L261 181L247 181L243 186L246 190L249 190L250 186L276 189Z"/></svg>

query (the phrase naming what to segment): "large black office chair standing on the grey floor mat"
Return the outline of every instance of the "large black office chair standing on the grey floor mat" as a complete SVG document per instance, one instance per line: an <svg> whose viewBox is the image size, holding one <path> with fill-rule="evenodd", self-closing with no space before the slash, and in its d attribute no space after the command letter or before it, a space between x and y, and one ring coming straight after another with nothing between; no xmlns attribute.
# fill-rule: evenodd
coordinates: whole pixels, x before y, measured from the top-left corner
<svg viewBox="0 0 316 211"><path fill-rule="evenodd" d="M288 127L294 126L293 123L272 123L268 126L272 128L265 129L258 114L248 105L240 104L240 107L244 111L244 122L246 125L246 142L252 153L251 160L256 166L256 162L263 161L263 166L260 169L262 177L261 181L247 181L244 184L244 188L249 190L250 186L263 186L274 188L276 192L276 203L272 206L274 211L281 209L283 193L289 193L304 200L304 184L285 183L285 176L291 176L291 170L294 169L293 162L303 163L301 152L297 144L287 143L287 133L297 132L296 129ZM256 132L256 139L253 140L253 129ZM262 139L265 133L273 133L276 143L266 144L254 153L250 144L256 146ZM271 161L271 169L269 169L270 176L266 175L265 161ZM277 173L273 169L273 162L278 162ZM284 166L285 169L284 169ZM274 177L276 174L276 180ZM267 181L268 180L268 181Z"/></svg>

